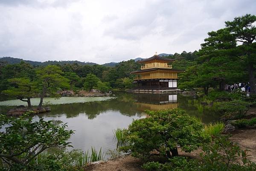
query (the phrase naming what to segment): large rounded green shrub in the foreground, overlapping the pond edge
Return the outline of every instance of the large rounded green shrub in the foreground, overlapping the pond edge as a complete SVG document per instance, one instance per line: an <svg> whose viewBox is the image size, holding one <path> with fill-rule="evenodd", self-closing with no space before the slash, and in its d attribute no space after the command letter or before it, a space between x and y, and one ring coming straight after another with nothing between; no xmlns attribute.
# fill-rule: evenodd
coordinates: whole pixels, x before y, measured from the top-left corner
<svg viewBox="0 0 256 171"><path fill-rule="evenodd" d="M153 150L160 155L177 156L177 145L183 151L197 149L205 139L203 125L184 110L146 111L150 117L134 120L127 130L128 145L120 147L124 152L132 152L134 157L146 158Z"/></svg>

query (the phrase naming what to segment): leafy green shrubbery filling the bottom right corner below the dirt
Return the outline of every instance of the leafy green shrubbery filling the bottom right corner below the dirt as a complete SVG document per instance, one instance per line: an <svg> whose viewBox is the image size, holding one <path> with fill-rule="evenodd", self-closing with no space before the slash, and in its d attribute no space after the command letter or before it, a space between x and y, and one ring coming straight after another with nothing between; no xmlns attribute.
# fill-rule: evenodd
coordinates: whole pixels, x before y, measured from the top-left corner
<svg viewBox="0 0 256 171"><path fill-rule="evenodd" d="M174 157L169 162L148 162L142 167L147 171L255 171L256 164L247 159L247 151L241 150L227 137L217 137L205 144L201 159Z"/></svg>

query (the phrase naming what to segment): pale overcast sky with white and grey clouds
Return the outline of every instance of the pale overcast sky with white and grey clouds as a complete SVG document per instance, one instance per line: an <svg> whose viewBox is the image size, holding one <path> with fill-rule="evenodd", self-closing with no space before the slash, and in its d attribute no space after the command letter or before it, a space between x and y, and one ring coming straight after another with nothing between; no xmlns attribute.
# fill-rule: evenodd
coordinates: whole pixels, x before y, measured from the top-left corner
<svg viewBox="0 0 256 171"><path fill-rule="evenodd" d="M0 56L98 64L195 51L256 0L0 0Z"/></svg>

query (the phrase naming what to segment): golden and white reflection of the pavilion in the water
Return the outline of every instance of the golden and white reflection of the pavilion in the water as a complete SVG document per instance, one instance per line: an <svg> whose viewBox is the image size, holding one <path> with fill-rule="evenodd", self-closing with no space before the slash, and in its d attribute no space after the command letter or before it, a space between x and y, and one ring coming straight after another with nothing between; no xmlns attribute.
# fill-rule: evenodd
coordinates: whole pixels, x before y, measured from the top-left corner
<svg viewBox="0 0 256 171"><path fill-rule="evenodd" d="M138 94L135 99L137 101L134 104L139 110L164 110L178 107L177 94Z"/></svg>

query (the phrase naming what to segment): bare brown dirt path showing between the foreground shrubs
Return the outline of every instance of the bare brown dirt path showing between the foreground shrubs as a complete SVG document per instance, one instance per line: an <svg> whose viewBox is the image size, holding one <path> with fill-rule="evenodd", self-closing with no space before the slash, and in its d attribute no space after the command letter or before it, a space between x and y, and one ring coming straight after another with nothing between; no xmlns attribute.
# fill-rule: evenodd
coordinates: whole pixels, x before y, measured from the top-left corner
<svg viewBox="0 0 256 171"><path fill-rule="evenodd" d="M237 130L230 137L232 142L238 143L241 149L250 150L248 157L253 162L256 162L256 129ZM180 151L180 156L187 156L192 158L198 158L201 151L193 151L191 154ZM134 157L125 156L117 160L111 160L100 164L89 165L85 168L85 171L145 171L140 166L143 164L140 159Z"/></svg>

